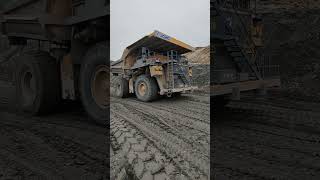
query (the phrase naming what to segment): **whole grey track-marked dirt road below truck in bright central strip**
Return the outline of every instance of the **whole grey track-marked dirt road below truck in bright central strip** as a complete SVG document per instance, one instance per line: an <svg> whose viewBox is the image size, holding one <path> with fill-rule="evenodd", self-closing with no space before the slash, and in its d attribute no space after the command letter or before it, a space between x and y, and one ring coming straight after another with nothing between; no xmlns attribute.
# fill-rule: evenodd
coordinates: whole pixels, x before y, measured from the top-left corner
<svg viewBox="0 0 320 180"><path fill-rule="evenodd" d="M111 159L123 154L139 179L209 179L209 135L209 96L111 98Z"/></svg>

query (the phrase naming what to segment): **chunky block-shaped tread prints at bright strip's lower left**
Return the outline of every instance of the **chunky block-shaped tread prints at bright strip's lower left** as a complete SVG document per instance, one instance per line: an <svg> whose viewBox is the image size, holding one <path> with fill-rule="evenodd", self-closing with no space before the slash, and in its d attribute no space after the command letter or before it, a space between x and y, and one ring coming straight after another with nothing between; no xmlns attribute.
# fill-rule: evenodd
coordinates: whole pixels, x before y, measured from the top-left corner
<svg viewBox="0 0 320 180"><path fill-rule="evenodd" d="M129 171L129 174L131 171L131 176L134 176L132 178L137 179L179 179L185 177L170 159L124 119L112 113L110 125L111 134L121 147L111 157L111 162L120 162L117 164L118 167L112 166L111 179L120 179L119 176L123 176L124 169ZM121 160L119 157L124 157L125 160ZM121 161L125 162L121 164Z"/></svg>

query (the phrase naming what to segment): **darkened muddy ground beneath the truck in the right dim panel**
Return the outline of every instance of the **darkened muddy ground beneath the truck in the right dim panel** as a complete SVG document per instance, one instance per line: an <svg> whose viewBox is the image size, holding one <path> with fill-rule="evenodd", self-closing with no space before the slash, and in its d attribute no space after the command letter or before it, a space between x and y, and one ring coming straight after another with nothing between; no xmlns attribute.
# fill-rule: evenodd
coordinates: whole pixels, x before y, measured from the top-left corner
<svg viewBox="0 0 320 180"><path fill-rule="evenodd" d="M232 102L231 111L217 116L216 179L319 179L319 114L283 100L264 101Z"/></svg>

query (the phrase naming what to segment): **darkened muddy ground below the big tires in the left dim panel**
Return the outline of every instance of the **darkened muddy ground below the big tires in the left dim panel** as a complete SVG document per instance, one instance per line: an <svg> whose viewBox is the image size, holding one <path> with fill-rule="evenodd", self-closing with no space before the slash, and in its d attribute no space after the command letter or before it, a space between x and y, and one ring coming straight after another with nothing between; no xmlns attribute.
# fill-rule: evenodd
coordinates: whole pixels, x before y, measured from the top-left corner
<svg viewBox="0 0 320 180"><path fill-rule="evenodd" d="M1 82L0 92L0 179L108 179L107 128L90 122L79 104L24 117L8 109L14 86Z"/></svg>

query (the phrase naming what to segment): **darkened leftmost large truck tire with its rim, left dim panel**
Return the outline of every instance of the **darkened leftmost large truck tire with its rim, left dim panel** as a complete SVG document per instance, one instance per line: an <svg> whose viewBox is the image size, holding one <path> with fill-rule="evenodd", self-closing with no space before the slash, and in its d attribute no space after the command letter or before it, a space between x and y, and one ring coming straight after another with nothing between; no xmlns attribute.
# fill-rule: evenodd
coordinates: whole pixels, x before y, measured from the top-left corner
<svg viewBox="0 0 320 180"><path fill-rule="evenodd" d="M14 58L17 110L25 115L51 112L60 101L60 75L56 60L42 51L25 52Z"/></svg>

